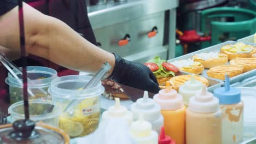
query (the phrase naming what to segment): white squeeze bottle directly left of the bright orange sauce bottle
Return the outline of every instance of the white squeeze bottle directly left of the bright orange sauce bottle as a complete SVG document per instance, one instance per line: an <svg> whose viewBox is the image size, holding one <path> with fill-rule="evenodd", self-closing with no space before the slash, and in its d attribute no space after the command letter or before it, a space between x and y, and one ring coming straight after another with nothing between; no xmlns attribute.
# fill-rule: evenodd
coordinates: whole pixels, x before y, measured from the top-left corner
<svg viewBox="0 0 256 144"><path fill-rule="evenodd" d="M138 119L139 114L142 113L146 121L152 124L153 130L160 133L160 129L164 125L164 118L162 117L160 106L153 99L148 98L147 91L144 91L143 98L137 99L136 103L131 105L131 112L135 121Z"/></svg>

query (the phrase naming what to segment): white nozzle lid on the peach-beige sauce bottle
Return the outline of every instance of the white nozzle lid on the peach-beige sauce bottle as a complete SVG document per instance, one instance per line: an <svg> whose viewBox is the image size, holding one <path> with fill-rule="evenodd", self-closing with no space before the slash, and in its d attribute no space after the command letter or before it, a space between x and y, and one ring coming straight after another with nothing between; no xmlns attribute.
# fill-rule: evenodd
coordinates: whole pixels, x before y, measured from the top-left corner
<svg viewBox="0 0 256 144"><path fill-rule="evenodd" d="M203 86L202 92L190 98L188 109L199 113L216 112L219 110L219 100L213 97L212 93L207 92L206 86Z"/></svg>

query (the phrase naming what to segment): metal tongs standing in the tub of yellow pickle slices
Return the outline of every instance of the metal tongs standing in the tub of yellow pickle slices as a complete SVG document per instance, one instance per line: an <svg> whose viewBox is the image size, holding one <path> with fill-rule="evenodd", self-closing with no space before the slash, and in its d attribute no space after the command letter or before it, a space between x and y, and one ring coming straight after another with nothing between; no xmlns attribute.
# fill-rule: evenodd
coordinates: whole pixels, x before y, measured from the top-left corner
<svg viewBox="0 0 256 144"><path fill-rule="evenodd" d="M98 82L101 81L102 77L106 75L106 73L110 70L111 66L108 62L104 62L101 65L101 68L97 71L97 73L91 78L91 80L86 83L86 85L83 87L83 89L95 87ZM68 113L69 116L73 116L74 114L74 106L77 106L79 103L81 103L82 100L72 100L71 103L68 104L66 109L64 109L64 112Z"/></svg>

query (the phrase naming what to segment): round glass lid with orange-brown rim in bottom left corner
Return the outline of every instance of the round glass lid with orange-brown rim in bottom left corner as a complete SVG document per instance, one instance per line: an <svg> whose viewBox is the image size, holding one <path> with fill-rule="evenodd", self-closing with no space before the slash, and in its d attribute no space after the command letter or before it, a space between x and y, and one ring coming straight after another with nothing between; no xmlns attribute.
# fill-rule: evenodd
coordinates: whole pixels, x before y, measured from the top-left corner
<svg viewBox="0 0 256 144"><path fill-rule="evenodd" d="M48 124L37 123L34 130L39 133L38 137L25 140L11 139L9 133L13 131L12 124L0 125L0 143L13 143L13 144L69 144L69 136L63 130L51 127Z"/></svg>

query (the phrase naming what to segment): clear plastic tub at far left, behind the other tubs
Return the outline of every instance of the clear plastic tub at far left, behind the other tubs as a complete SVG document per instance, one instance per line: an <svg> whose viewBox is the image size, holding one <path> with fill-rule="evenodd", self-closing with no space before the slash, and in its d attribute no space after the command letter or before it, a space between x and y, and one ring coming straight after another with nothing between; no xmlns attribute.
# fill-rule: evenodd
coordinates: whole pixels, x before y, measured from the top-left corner
<svg viewBox="0 0 256 144"><path fill-rule="evenodd" d="M21 76L18 71L13 71L16 75ZM51 81L57 77L57 71L46 67L27 67L27 75L32 78L32 80L28 80L28 90L31 91L35 96L32 97L31 95L28 95L28 99L51 100L51 97L49 97L49 93L47 91L50 87ZM15 77L13 77L10 73L8 73L8 77L5 79L5 82L9 85L11 104L22 100L23 84L19 81L22 81L22 79L15 79ZM44 92L40 91L38 88L43 89Z"/></svg>

